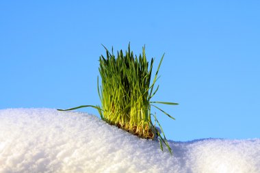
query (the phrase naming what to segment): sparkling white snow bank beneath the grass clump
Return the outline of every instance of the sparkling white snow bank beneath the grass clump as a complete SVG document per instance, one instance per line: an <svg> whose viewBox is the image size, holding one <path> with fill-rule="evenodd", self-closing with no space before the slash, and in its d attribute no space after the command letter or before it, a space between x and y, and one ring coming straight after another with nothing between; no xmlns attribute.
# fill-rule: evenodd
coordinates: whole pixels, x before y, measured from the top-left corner
<svg viewBox="0 0 260 173"><path fill-rule="evenodd" d="M96 116L0 110L0 172L260 172L260 139L140 139Z"/></svg>

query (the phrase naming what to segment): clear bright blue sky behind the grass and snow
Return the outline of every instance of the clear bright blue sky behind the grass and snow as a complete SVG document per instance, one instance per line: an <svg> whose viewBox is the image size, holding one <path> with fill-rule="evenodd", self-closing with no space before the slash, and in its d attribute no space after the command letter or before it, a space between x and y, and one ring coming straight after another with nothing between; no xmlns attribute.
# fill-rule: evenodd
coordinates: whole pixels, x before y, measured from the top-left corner
<svg viewBox="0 0 260 173"><path fill-rule="evenodd" d="M1 1L0 109L100 104L101 44L131 42L157 64L166 53L168 139L260 137L259 18L259 1Z"/></svg>

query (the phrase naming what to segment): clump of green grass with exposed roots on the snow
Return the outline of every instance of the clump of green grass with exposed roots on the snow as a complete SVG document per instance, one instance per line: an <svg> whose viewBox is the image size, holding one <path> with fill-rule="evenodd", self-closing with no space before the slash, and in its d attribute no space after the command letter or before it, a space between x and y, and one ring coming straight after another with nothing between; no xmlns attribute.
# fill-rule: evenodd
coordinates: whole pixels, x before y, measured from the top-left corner
<svg viewBox="0 0 260 173"><path fill-rule="evenodd" d="M125 54L120 50L114 55L113 48L112 53L106 48L105 50L106 57L101 55L99 58L101 85L99 85L99 77L97 82L101 106L82 105L58 110L68 111L81 107L94 107L99 110L99 114L105 122L145 139L158 137L161 150L163 150L162 143L164 143L172 153L156 114L151 114L151 107L155 107L174 120L172 116L155 104L178 105L177 103L151 101L159 89L159 85L155 88L155 83L159 79L158 72L164 55L161 57L155 77L151 81L154 59L151 59L149 65L145 47L142 48L142 54L139 57L133 55L130 44ZM155 128L152 118L154 123L159 125L161 133Z"/></svg>

